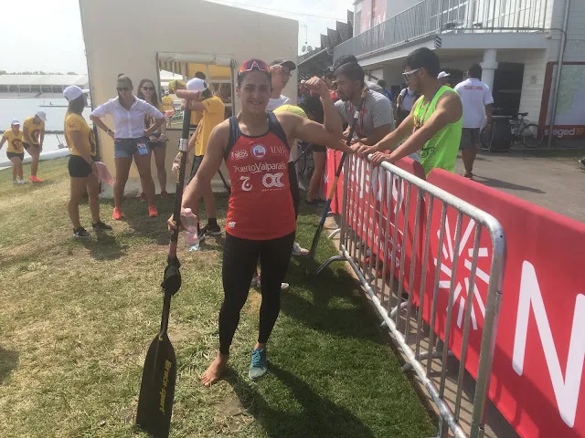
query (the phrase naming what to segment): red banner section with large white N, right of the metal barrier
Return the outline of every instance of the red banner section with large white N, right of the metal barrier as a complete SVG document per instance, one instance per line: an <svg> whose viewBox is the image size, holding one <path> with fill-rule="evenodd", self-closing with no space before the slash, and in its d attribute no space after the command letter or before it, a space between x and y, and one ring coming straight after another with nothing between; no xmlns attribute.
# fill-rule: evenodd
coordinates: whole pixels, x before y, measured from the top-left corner
<svg viewBox="0 0 585 438"><path fill-rule="evenodd" d="M585 436L585 225L449 172L428 181L505 230L490 398L522 436Z"/></svg>

